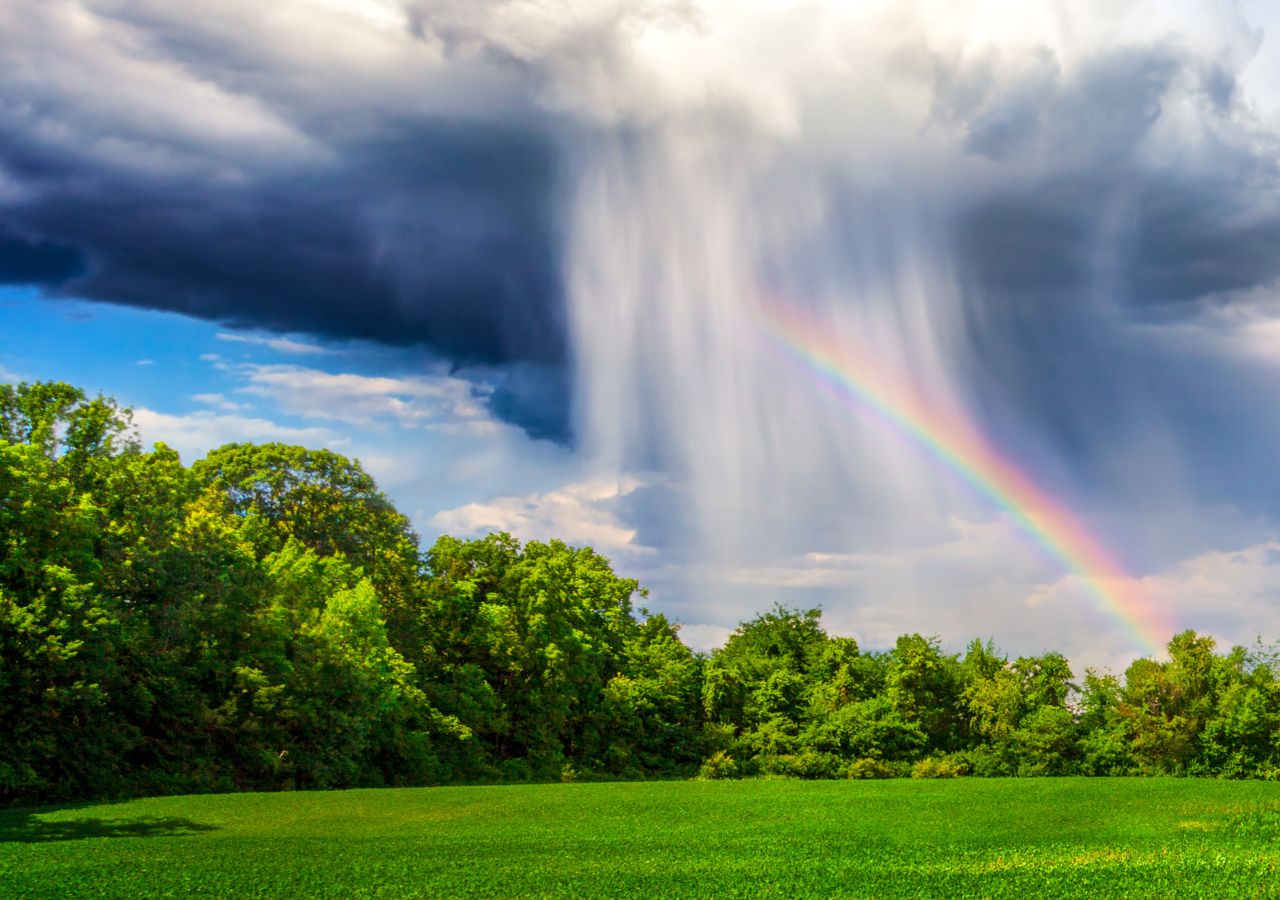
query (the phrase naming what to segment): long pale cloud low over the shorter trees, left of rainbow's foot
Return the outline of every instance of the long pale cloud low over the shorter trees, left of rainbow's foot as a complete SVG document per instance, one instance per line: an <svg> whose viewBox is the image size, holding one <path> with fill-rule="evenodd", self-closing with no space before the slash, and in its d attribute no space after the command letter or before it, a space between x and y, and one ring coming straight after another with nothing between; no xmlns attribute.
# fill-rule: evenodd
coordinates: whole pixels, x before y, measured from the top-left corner
<svg viewBox="0 0 1280 900"><path fill-rule="evenodd" d="M916 545L641 574L641 583L650 580L675 585L666 607L672 617L722 629L782 602L820 606L829 632L865 649L920 632L961 652L970 639L989 636L1014 655L1060 650L1076 673L1087 666L1121 671L1139 654L1130 630L1004 517L955 516L938 539ZM695 599L684 600L686 586ZM655 597L667 600L668 591Z"/></svg>

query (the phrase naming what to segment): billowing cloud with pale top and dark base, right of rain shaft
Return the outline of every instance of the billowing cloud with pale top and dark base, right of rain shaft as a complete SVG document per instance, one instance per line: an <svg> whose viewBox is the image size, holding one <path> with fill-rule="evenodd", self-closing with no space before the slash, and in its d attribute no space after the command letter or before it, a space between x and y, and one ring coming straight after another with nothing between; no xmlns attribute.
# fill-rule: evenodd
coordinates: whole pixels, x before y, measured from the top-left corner
<svg viewBox="0 0 1280 900"><path fill-rule="evenodd" d="M980 289L1084 305L1103 289L1156 307L1280 275L1280 178L1233 73L1160 42L1100 54L1071 77L1034 59L1012 82L975 67L936 86L969 152L1009 173L957 223Z"/></svg>

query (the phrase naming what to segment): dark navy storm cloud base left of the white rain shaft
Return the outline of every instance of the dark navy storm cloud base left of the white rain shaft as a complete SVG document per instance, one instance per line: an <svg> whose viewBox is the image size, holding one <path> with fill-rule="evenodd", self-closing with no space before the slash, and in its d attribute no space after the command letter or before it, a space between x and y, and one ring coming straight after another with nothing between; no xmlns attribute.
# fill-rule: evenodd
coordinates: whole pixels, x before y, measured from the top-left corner
<svg viewBox="0 0 1280 900"><path fill-rule="evenodd" d="M421 343L460 364L562 357L544 141L424 122L343 151L323 170L218 183L38 160L10 132L0 164L38 200L4 216L41 236L28 265L61 274L60 293ZM72 247L92 261L79 277Z"/></svg>

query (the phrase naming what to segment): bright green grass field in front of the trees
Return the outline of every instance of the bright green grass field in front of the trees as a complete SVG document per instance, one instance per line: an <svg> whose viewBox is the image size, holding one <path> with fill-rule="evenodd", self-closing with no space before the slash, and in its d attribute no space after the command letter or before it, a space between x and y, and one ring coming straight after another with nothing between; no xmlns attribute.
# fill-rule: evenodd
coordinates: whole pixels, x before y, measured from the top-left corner
<svg viewBox="0 0 1280 900"><path fill-rule="evenodd" d="M0 896L1277 896L1280 787L1128 778L232 794L0 812Z"/></svg>

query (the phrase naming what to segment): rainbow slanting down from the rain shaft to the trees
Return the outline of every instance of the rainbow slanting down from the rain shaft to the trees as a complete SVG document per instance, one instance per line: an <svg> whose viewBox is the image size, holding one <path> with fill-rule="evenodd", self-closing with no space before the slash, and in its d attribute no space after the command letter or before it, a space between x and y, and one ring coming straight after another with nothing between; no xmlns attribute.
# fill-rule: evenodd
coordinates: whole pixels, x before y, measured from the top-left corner
<svg viewBox="0 0 1280 900"><path fill-rule="evenodd" d="M1046 494L997 453L963 416L895 378L869 355L851 352L804 312L778 303L760 307L760 333L836 393L924 449L1005 511L1037 544L1075 575L1147 654L1162 650L1174 629L1164 612L1111 558L1069 508Z"/></svg>

